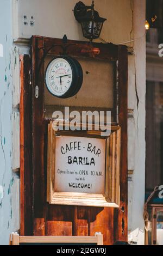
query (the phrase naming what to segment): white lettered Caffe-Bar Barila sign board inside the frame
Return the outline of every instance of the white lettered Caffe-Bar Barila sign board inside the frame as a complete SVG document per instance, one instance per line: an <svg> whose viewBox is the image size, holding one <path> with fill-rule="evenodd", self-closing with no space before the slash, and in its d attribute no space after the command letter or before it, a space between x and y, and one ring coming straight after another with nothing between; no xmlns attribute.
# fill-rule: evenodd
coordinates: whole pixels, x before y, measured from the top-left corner
<svg viewBox="0 0 163 256"><path fill-rule="evenodd" d="M55 192L105 193L106 139L55 138Z"/></svg>

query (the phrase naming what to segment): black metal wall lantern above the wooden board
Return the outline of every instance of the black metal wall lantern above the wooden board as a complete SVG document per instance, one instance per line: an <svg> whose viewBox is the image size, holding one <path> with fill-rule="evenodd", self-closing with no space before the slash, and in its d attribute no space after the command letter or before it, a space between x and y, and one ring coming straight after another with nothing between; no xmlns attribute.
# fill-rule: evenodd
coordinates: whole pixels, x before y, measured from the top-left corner
<svg viewBox="0 0 163 256"><path fill-rule="evenodd" d="M94 1L92 1L91 6L86 6L80 1L74 7L74 16L82 26L84 37L90 41L99 38L103 23L106 20L99 16L98 11L95 11L94 7Z"/></svg>

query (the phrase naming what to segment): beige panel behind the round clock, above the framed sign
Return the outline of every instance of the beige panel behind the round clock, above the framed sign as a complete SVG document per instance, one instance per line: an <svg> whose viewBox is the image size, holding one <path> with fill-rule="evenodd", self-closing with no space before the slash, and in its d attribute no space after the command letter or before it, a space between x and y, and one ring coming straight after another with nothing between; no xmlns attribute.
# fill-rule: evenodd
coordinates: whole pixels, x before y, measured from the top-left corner
<svg viewBox="0 0 163 256"><path fill-rule="evenodd" d="M53 58L54 56L46 57L45 70ZM68 99L59 99L49 93L45 86L45 105L113 108L116 63L87 58L77 59L83 69L83 84L79 93Z"/></svg>

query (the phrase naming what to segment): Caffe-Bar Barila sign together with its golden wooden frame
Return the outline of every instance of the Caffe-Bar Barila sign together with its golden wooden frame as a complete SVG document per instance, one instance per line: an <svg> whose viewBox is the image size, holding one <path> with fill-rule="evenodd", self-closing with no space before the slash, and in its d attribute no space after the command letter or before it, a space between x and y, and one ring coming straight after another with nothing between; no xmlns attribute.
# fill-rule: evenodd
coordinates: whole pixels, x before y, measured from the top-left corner
<svg viewBox="0 0 163 256"><path fill-rule="evenodd" d="M118 207L121 129L57 131L48 125L47 201L50 204Z"/></svg>

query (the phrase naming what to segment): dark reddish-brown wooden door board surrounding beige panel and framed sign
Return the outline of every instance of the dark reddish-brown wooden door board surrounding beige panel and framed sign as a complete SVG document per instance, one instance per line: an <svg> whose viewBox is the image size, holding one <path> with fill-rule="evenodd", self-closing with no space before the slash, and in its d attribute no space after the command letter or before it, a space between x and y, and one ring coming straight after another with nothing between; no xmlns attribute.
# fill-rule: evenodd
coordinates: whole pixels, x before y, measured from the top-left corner
<svg viewBox="0 0 163 256"><path fill-rule="evenodd" d="M43 71L40 69L36 77L42 46L61 44L61 39L32 38L32 69L33 69L33 209L35 235L91 235L95 231L104 234L104 244L111 245L115 240L127 241L127 48L112 44L94 44L101 49L97 59L118 60L118 124L122 128L121 136L121 207L90 208L80 206L60 206L46 203L46 175L47 175L47 124L43 118ZM68 40L73 46L68 48L68 54L81 57L81 47L86 43ZM60 54L61 47L54 47L50 54ZM85 57L92 58L89 53ZM35 86L39 87L39 97L35 97ZM115 105L116 106L116 105ZM93 234L94 235L94 234Z"/></svg>

